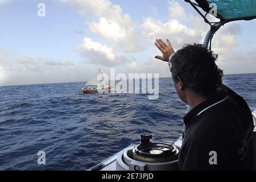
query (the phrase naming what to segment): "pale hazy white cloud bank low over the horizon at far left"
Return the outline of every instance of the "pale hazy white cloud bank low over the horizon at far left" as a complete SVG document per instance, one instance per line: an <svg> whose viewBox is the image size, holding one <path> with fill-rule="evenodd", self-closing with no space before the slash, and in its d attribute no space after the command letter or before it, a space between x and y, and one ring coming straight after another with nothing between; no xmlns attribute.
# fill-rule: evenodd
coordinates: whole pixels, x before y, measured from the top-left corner
<svg viewBox="0 0 256 182"><path fill-rule="evenodd" d="M0 60L3 58L1 55ZM8 62L5 67L0 65L0 85L86 81L86 77L93 73L86 64L71 61L58 62L29 56L12 56L10 61L11 64Z"/></svg>

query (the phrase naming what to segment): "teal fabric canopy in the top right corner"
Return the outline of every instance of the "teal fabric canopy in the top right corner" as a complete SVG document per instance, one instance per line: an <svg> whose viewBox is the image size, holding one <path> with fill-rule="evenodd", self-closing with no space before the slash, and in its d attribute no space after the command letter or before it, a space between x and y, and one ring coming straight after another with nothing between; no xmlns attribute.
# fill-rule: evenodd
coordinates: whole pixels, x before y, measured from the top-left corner
<svg viewBox="0 0 256 182"><path fill-rule="evenodd" d="M217 18L221 20L256 18L256 0L198 0L198 5L209 12L210 3L217 5Z"/></svg>

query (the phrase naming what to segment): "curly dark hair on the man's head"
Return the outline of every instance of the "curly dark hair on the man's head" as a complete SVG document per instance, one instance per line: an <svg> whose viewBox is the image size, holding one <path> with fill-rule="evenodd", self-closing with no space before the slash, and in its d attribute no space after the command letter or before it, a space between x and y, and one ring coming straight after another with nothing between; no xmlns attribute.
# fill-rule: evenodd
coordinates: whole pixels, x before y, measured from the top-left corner
<svg viewBox="0 0 256 182"><path fill-rule="evenodd" d="M200 96L213 96L222 85L223 71L215 64L215 55L203 44L186 44L171 57L173 81L180 77L185 88Z"/></svg>

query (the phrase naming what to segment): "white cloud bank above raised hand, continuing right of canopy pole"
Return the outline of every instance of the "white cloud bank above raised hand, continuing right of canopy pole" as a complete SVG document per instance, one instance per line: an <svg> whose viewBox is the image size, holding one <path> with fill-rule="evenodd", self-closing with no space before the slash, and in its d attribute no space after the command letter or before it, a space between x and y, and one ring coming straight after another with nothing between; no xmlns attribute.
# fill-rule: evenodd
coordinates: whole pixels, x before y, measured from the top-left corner
<svg viewBox="0 0 256 182"><path fill-rule="evenodd" d="M169 38L174 48L181 48L186 43L202 43L210 26L199 15L185 14L185 10L177 1L169 2L170 19L167 22L147 17L142 23L144 41L152 43L157 38ZM189 17L189 23L179 18ZM216 19L212 16L211 20ZM190 25L190 26L189 26ZM238 46L235 35L240 31L239 24L226 24L214 36L214 51L224 53Z"/></svg>

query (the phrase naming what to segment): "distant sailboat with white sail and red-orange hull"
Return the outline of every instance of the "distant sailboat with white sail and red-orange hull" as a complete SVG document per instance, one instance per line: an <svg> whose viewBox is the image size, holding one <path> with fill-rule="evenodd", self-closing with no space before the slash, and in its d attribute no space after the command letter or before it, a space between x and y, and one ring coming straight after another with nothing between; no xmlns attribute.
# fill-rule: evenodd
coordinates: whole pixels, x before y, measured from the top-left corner
<svg viewBox="0 0 256 182"><path fill-rule="evenodd" d="M98 80L99 76L100 76L101 80ZM94 77L92 77L89 81L87 81L85 86L83 86L82 88L79 89L79 92L82 94L95 93L95 92L98 92L98 90L100 90L103 93L108 92L109 90L111 90L111 86L109 86L108 82L104 83L103 88L98 89L99 83L104 80L105 80L105 77L103 76L101 69L99 69L99 72Z"/></svg>

